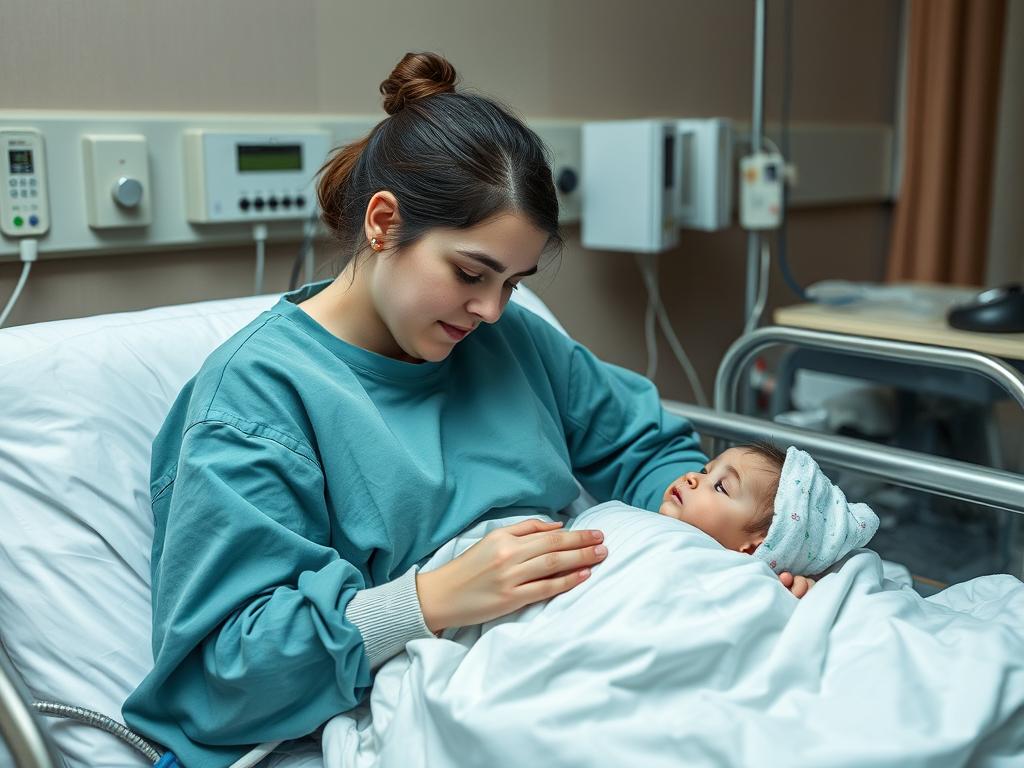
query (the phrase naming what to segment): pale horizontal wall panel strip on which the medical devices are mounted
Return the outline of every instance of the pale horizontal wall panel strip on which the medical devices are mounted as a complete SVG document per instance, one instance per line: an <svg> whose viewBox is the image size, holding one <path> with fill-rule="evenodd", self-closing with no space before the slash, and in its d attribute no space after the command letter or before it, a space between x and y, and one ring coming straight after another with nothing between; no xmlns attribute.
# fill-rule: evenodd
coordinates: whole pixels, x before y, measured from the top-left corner
<svg viewBox="0 0 1024 768"><path fill-rule="evenodd" d="M252 227L245 223L194 224L188 222L185 201L184 132L194 128L234 131L288 132L300 127L327 130L333 144L359 138L381 116L330 114L257 115L214 113L120 113L0 111L0 127L34 128L42 133L50 189L50 228L39 240L40 258L89 256L112 252L141 253L188 248L216 248L251 242ZM552 173L571 181L572 191L559 193L562 223L580 219L582 121L529 121L551 152ZM769 126L769 133L772 133ZM89 226L86 207L85 135L145 137L148 147L147 202L152 222L143 227L96 229ZM885 125L792 126L793 161L800 169L800 183L793 189L792 205L879 202L891 198L892 130ZM737 155L742 150L737 147ZM298 241L302 225L282 221L270 225L271 241ZM0 260L17 258L17 242L0 238Z"/></svg>

